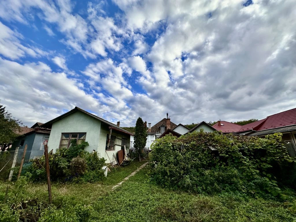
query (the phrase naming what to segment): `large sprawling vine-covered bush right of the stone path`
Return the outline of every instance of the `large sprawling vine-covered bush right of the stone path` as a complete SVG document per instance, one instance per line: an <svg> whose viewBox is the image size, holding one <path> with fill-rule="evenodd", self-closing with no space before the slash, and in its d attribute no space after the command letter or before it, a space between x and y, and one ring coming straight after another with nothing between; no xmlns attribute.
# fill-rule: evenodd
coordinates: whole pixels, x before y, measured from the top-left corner
<svg viewBox="0 0 296 222"><path fill-rule="evenodd" d="M281 133L266 138L194 132L167 135L152 145L151 180L163 187L213 194L280 194L275 167L294 162Z"/></svg>

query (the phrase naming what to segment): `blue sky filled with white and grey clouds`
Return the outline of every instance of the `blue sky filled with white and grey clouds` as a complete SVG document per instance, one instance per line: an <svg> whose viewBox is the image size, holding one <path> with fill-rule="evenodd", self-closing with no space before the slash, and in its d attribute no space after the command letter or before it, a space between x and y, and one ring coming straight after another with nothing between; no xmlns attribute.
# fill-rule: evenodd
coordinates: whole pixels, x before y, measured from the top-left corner
<svg viewBox="0 0 296 222"><path fill-rule="evenodd" d="M121 126L296 107L295 0L2 0L0 99L24 125L78 106Z"/></svg>

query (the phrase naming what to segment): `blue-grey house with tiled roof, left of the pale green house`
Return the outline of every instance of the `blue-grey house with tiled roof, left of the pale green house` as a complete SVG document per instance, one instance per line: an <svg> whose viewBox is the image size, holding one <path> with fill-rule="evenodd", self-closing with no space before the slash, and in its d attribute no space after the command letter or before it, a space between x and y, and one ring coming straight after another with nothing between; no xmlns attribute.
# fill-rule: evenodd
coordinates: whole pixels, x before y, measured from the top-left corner
<svg viewBox="0 0 296 222"><path fill-rule="evenodd" d="M21 127L19 132L20 136L12 144L11 150L15 150L19 147L19 152L17 156L17 161L19 162L22 158L22 154L27 145L27 150L25 154L25 162L34 159L36 157L41 157L44 154L44 141L49 139L50 129L40 128L39 125L35 123L31 128Z"/></svg>

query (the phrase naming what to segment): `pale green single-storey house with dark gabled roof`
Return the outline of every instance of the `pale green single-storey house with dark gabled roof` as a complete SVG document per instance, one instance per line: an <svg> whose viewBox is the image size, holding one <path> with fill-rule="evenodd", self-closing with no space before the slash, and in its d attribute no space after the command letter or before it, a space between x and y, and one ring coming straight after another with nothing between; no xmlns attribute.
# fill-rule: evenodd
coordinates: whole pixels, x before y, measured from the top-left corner
<svg viewBox="0 0 296 222"><path fill-rule="evenodd" d="M120 128L120 122L117 124L75 107L73 110L44 123L42 127L51 128L48 141L49 150L53 149L55 152L56 149L69 147L71 139L76 139L78 144L87 141L89 146L85 148L86 151L95 150L106 159L106 163L115 163L113 154L116 156L124 145L129 148L130 136L134 136L133 133Z"/></svg>

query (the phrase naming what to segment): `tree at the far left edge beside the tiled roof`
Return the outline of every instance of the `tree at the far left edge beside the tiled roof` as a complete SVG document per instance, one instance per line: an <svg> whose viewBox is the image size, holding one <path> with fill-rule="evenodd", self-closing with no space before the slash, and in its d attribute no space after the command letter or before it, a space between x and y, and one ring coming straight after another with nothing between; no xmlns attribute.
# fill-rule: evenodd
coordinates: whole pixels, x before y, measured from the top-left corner
<svg viewBox="0 0 296 222"><path fill-rule="evenodd" d="M6 107L0 104L0 145L13 142L20 131L22 122L5 110Z"/></svg>

